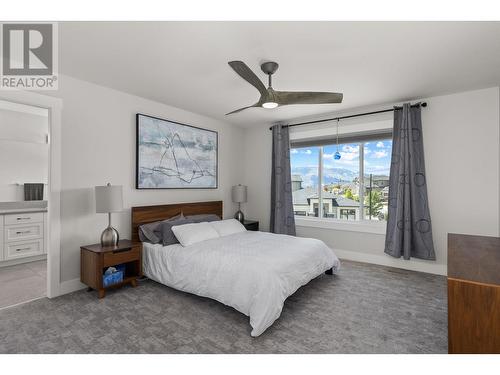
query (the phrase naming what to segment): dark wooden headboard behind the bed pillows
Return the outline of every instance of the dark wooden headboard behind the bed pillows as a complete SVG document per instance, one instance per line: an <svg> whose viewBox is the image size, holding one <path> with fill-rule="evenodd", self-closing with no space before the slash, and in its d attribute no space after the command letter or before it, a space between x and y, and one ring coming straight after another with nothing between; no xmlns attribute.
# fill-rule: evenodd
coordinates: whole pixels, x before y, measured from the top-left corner
<svg viewBox="0 0 500 375"><path fill-rule="evenodd" d="M222 219L222 201L132 207L132 241L139 242L139 226L179 215L215 214Z"/></svg>

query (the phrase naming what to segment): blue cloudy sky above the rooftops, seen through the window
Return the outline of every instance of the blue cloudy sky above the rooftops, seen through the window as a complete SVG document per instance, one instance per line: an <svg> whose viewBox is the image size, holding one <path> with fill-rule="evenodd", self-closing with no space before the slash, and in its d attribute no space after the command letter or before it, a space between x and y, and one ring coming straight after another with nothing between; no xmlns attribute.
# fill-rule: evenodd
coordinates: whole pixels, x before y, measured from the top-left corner
<svg viewBox="0 0 500 375"><path fill-rule="evenodd" d="M391 166L391 140L373 141L365 143L365 175L389 175ZM328 180L337 178L352 180L352 176L359 175L359 146L358 144L340 144L340 160L334 159L337 146L323 147L323 175ZM292 173L303 176L303 186L314 186L317 181L319 147L305 147L291 150Z"/></svg>

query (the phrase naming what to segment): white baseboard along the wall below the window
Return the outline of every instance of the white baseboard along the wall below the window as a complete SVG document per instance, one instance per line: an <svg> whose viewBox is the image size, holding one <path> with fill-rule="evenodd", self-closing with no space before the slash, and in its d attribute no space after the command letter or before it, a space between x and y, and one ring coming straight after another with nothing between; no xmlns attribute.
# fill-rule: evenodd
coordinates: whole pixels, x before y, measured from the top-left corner
<svg viewBox="0 0 500 375"><path fill-rule="evenodd" d="M436 275L446 276L448 274L445 264L436 264L431 263L430 261L422 261L418 259L396 259L386 254L375 255L335 248L334 251L340 259L353 260L363 263L372 263L388 267L403 268L406 270L433 273Z"/></svg>

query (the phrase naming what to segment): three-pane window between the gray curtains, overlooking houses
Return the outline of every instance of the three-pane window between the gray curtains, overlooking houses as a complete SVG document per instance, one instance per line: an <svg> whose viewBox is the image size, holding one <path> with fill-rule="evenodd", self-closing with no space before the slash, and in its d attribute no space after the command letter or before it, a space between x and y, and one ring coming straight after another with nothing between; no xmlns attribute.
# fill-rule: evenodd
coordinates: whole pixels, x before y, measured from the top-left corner
<svg viewBox="0 0 500 375"><path fill-rule="evenodd" d="M392 140L349 137L291 148L293 207L297 216L348 221L387 220ZM354 140L354 141L353 141ZM335 153L340 159L335 159Z"/></svg>

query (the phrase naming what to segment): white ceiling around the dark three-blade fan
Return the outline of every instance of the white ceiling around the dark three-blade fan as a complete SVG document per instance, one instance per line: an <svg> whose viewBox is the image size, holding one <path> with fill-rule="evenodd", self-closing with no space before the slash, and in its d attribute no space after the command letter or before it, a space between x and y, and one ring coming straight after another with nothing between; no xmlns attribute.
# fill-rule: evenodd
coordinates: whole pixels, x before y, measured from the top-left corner
<svg viewBox="0 0 500 375"><path fill-rule="evenodd" d="M500 84L500 22L60 23L61 73L239 126ZM342 104L251 108L242 60L277 90L344 93Z"/></svg>

